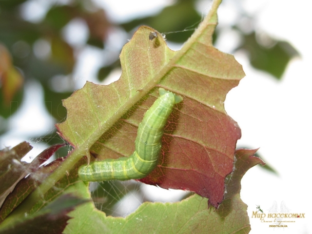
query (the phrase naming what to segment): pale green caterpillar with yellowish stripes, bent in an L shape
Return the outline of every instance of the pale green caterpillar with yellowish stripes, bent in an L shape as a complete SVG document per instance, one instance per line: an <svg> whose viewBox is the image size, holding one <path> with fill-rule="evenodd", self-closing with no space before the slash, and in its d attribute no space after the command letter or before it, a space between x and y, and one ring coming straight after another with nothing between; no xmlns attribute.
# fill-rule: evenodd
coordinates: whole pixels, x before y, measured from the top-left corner
<svg viewBox="0 0 312 234"><path fill-rule="evenodd" d="M130 157L105 159L81 166L78 169L81 180L141 179L154 170L158 164L164 127L174 105L182 100L182 97L162 88L159 88L159 95L138 125L136 151Z"/></svg>

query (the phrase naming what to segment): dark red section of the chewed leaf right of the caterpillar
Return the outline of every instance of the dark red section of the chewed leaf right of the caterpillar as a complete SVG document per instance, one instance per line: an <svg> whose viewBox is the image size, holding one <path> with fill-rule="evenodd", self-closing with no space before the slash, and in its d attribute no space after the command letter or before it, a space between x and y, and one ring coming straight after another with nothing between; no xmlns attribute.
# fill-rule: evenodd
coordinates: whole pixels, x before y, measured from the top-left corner
<svg viewBox="0 0 312 234"><path fill-rule="evenodd" d="M171 131L165 130L159 164L140 181L164 189L194 191L208 197L217 208L223 200L225 177L233 170L241 131L231 117L188 98L175 114L179 115L178 129L172 135L169 123L166 129Z"/></svg>

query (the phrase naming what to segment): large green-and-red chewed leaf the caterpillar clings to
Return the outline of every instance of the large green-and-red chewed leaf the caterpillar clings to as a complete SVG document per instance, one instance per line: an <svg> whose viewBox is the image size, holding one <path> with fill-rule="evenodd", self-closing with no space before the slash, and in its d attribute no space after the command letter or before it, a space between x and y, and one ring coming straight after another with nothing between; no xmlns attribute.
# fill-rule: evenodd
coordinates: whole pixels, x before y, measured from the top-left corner
<svg viewBox="0 0 312 234"><path fill-rule="evenodd" d="M183 101L165 127L159 165L141 181L194 191L218 207L241 136L237 123L224 110L224 100L245 76L232 55L212 45L219 3L214 1L180 51L170 50L154 29L140 27L121 51L119 80L110 85L87 82L63 101L67 118L57 128L75 147L68 163L89 150L102 155L99 159L130 156L137 126L162 87Z"/></svg>

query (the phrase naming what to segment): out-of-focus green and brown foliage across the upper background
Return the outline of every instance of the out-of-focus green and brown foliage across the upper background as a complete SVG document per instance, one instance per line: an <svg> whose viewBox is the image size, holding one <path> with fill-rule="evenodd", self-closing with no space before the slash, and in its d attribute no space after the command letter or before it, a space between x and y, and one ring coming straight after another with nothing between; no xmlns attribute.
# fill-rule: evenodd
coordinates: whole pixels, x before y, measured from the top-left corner
<svg viewBox="0 0 312 234"><path fill-rule="evenodd" d="M4 46L12 56L14 67L24 79L23 84L33 79L41 83L47 111L58 122L66 118L66 109L62 106L61 100L69 97L75 89L76 80L73 77L73 71L78 64L79 52L83 48L94 46L102 52L106 49L113 50L105 46L110 32L113 31L111 29L119 28L132 35L143 24L161 33L167 32L168 41L183 43L192 35L201 20L201 13L198 13L195 7L196 0L176 0L173 5L165 7L156 15L138 17L119 25L110 22L105 10L92 0L71 0L68 4L57 2L47 0L47 9L43 18L30 21L25 19L23 12L25 4L29 4L30 0L0 0L0 45ZM245 17L245 12L241 12L241 18L243 17ZM88 27L88 38L83 45L73 45L63 36L64 28L74 19L83 20ZM240 34L242 41L232 53L238 49L246 50L255 68L280 79L288 62L298 55L297 51L288 42L278 41L269 36L267 38L271 43L264 45L257 37L257 32L252 30L248 34L244 33L237 25L238 22L234 22L228 26ZM225 29L224 26L222 27L217 28L214 41ZM126 40L124 42L126 43ZM120 53L121 48L118 50L116 54ZM3 54L0 53L0 62L1 57ZM103 53L103 57L105 57L103 64L98 69L98 81L103 81L111 71L120 67L117 56ZM69 78L71 82L61 84L62 89L56 90L52 85L53 78L56 76L63 79ZM17 111L19 105L8 107L5 104L3 97L3 89L6 89L5 78L0 78L2 83L0 116L6 121L5 119ZM12 91L10 101L22 103L23 87ZM0 128L0 134L6 131L6 128ZM53 141L53 143L56 142Z"/></svg>

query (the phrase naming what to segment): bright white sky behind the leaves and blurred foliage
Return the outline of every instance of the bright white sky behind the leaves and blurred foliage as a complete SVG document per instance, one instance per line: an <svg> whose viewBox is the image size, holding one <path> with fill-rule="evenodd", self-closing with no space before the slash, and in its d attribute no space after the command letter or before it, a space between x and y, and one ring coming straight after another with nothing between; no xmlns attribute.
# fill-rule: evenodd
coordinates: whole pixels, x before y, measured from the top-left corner
<svg viewBox="0 0 312 234"><path fill-rule="evenodd" d="M162 7L173 2L166 0L94 1L102 5L109 13L110 19L115 22L132 19L138 14L142 16L155 14ZM246 77L240 81L238 87L227 95L225 102L227 113L238 122L242 130L242 138L238 140L237 145L260 147L258 153L279 173L279 176L275 176L256 166L249 170L242 179L241 198L248 205L251 234L312 233L310 192L310 178L312 177L312 39L310 36L312 4L308 0L223 0L218 10L220 26L235 20L236 1L255 17L257 29L276 39L289 41L301 55L301 58L291 61L282 80L277 81L270 75L252 68L247 55L242 51L234 54L246 73ZM35 9L32 7L37 7L39 15L29 14L29 20L36 21L36 17L42 17L40 14L44 16L44 7L40 8L43 2L33 0L33 6L25 6L25 18L27 18L26 10L33 12L32 9ZM206 14L209 2L207 4L206 1L201 1L198 9ZM64 32L68 41L72 40L74 44L81 43L88 33L83 31L81 23L75 21L66 30L77 33L74 38L71 38L70 34L66 36ZM117 30L116 35L119 34L122 33ZM112 40L117 38L113 36ZM130 38L131 36L128 39ZM236 43L238 41L235 33L228 31L217 41L216 47L223 52L229 52ZM119 44L122 46L124 42L121 40ZM181 45L169 44L169 46L178 49ZM96 80L95 68L101 64L99 56L100 54L91 48L83 51L84 59L79 60L81 66L78 66L75 73L78 77L77 89L81 88L86 80ZM113 79L119 76L120 71L112 74ZM34 142L35 140L29 139L29 136L36 134L44 136L54 128L54 120L44 110L40 85L35 83L27 87L25 100L28 104L22 106L19 113L11 118L11 131L0 139L0 148L14 146L23 140L31 140L34 150L30 154L36 156L46 148L46 145ZM252 212L256 211L256 205L260 205L264 213L268 213L274 201L278 204L278 210L280 210L281 202L284 201L291 213L305 213L305 218L298 219L295 223L285 223L288 225L285 230L273 230L268 227L268 224L261 223L259 219L251 218Z"/></svg>

